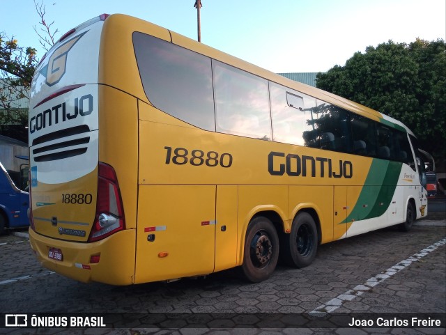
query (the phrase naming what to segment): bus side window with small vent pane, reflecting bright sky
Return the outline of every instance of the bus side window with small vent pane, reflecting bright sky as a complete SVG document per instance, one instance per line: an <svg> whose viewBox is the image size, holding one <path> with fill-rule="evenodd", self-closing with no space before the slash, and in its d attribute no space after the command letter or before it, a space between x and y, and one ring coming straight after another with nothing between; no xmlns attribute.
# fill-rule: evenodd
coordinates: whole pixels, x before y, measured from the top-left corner
<svg viewBox="0 0 446 335"><path fill-rule="evenodd" d="M274 83L270 99L274 141L317 147L316 99Z"/></svg>

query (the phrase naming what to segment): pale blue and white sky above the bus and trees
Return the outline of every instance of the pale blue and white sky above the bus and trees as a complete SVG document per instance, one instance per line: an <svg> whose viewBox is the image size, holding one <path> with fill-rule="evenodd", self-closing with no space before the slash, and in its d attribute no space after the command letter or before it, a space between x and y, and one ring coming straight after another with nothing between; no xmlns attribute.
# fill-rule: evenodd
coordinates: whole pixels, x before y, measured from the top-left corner
<svg viewBox="0 0 446 335"><path fill-rule="evenodd" d="M42 0L36 0L41 2ZM139 17L197 39L195 0L43 0L60 38L102 13ZM201 42L272 72L325 72L392 40L446 40L445 0L201 0ZM0 0L0 31L40 47L33 0Z"/></svg>

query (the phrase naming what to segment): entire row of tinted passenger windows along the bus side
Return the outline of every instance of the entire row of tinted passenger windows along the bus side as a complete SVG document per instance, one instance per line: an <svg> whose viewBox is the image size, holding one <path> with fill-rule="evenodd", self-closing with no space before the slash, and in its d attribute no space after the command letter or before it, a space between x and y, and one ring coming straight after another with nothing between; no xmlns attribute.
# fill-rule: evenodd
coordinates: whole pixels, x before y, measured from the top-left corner
<svg viewBox="0 0 446 335"><path fill-rule="evenodd" d="M151 103L204 130L413 164L408 136L291 88L133 33Z"/></svg>

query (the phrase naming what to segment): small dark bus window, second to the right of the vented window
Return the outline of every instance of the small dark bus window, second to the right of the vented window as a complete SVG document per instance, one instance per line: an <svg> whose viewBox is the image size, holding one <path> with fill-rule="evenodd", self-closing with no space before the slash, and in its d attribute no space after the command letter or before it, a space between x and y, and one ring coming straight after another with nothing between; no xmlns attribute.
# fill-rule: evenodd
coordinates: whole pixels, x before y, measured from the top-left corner
<svg viewBox="0 0 446 335"><path fill-rule="evenodd" d="M374 120L351 114L351 135L353 153L356 155L376 156L376 132Z"/></svg>

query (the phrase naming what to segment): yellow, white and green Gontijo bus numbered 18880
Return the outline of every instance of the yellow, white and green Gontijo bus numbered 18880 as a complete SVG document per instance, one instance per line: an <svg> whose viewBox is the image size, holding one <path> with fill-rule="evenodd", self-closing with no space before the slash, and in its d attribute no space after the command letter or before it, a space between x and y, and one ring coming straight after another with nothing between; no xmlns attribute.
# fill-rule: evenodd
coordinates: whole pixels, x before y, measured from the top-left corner
<svg viewBox="0 0 446 335"><path fill-rule="evenodd" d="M66 33L31 91L31 247L78 281L258 282L427 215L405 125L134 17Z"/></svg>

